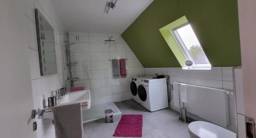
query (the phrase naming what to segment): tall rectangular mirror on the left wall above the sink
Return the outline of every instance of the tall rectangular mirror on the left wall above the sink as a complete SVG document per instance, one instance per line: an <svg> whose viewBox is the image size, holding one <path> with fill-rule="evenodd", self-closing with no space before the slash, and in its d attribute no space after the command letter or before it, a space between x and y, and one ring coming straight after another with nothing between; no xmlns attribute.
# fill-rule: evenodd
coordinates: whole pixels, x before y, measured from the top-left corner
<svg viewBox="0 0 256 138"><path fill-rule="evenodd" d="M41 76L57 73L54 30L42 14L35 9L35 22Z"/></svg>

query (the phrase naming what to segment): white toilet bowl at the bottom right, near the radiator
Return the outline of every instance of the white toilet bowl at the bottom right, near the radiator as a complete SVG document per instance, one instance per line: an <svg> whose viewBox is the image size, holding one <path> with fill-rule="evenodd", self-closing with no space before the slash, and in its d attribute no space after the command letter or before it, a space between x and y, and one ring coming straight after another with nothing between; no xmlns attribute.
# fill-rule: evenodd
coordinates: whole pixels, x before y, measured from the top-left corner
<svg viewBox="0 0 256 138"><path fill-rule="evenodd" d="M212 123L195 121L188 125L190 138L236 138L237 134Z"/></svg>

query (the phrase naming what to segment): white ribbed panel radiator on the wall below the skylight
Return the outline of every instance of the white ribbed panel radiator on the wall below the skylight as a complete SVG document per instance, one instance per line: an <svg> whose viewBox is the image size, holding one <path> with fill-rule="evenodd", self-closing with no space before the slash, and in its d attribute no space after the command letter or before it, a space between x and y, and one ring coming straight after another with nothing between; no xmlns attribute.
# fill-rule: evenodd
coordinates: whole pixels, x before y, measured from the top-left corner
<svg viewBox="0 0 256 138"><path fill-rule="evenodd" d="M195 85L185 85L185 106L187 112L225 128L229 125L228 96L226 94L228 91ZM174 93L177 94L177 89L176 91L174 90ZM177 100L179 99L174 99L174 101Z"/></svg>

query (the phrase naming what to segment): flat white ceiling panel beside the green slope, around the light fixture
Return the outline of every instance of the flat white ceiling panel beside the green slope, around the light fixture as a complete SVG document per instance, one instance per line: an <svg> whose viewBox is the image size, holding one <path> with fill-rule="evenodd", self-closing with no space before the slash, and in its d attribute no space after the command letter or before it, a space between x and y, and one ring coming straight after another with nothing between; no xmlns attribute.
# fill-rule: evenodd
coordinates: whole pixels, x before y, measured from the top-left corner
<svg viewBox="0 0 256 138"><path fill-rule="evenodd" d="M50 0L67 31L121 34L154 0Z"/></svg>

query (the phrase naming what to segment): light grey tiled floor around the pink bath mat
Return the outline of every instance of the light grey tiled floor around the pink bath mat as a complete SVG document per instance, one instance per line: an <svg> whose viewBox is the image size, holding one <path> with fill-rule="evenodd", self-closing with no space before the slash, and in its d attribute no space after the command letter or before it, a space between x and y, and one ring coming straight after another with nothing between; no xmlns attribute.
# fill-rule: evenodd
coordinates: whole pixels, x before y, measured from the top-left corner
<svg viewBox="0 0 256 138"><path fill-rule="evenodd" d="M141 105L133 100L117 102L116 105L122 114L142 114L143 115L143 131L142 137L157 138L182 138L189 137L187 124L177 121L178 113L170 109L162 109L156 112L148 112ZM85 138L108 138L113 137L113 133L121 118L121 115L115 116L114 123L105 123L104 119L84 123Z"/></svg>

